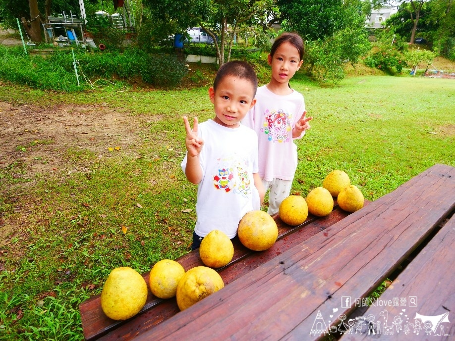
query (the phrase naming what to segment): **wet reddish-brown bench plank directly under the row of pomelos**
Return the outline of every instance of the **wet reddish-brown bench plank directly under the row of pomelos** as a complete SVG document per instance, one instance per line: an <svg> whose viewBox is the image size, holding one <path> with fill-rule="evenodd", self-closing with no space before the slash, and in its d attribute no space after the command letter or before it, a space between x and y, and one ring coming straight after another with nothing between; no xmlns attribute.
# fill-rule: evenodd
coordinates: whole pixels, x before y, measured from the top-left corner
<svg viewBox="0 0 455 341"><path fill-rule="evenodd" d="M336 199L335 199L335 205L337 207ZM338 210L338 211L335 210L333 212L333 214L329 215L330 218L327 217L324 219L315 217L310 214L303 224L292 227L292 226L285 224L280 219L278 214L275 214L274 219L275 219L278 229L279 229L278 240L281 240L281 239L285 238L286 236L288 236L296 231L299 231L303 227L310 226L314 222L318 222L314 225L314 229L312 229L312 228L305 229L307 231L314 232L314 233L309 233L309 234L307 232L306 234L304 234L307 236L307 238L309 238L313 234L319 232L320 229L323 229L323 228L329 226L329 225L327 225L328 223L333 224L336 221L342 219L345 215L346 215L345 213L342 213L342 212L340 213L340 210ZM276 252L280 252L280 251L276 251ZM255 253L255 252L247 249L242 244L240 244L238 241L237 242L234 241L234 256L232 258L232 261L227 266L225 266L223 269L217 269L217 271L220 272L220 271L224 270L225 268L229 268L233 264L248 257L249 255L251 255L253 253ZM204 265L199 257L199 250L190 251L187 254L183 255L182 257L179 257L178 259L176 259L176 261L178 261L185 270L191 269L195 266ZM265 260L264 260L264 262L265 262ZM236 278L237 276L239 276L239 275L235 275L234 270L235 269L233 269L232 272L229 272L230 277L227 278L228 282L231 281L232 279ZM146 274L143 275L144 280L147 283L149 282L149 273L150 272L147 272ZM98 295L93 296L93 297L89 298L88 300L82 302L79 305L79 311L81 314L81 321L82 321L82 329L84 331L84 337L88 341L96 340L96 339L100 338L101 336L107 334L108 332L113 331L116 328L118 328L119 326L127 323L127 321L114 321L114 320L110 319L109 317L107 317L104 314L103 310L101 309L100 298L101 298L101 295L98 294ZM150 292L150 290L149 290L147 302L139 314L143 314L143 313L149 311L150 309L154 308L155 306L162 304L162 303L163 303L163 300L155 297L152 294L152 292ZM163 318L165 318L166 316L169 316L168 311L164 311L164 310L170 309L172 311L172 309L174 307L168 306L168 304L169 304L169 302L160 308L161 310L163 310L163 312L159 313L155 320L159 320L161 318L161 316L164 316ZM145 318L148 318L149 315L150 314L148 314ZM171 315L173 315L173 314L171 314ZM135 318L137 318L137 315Z"/></svg>

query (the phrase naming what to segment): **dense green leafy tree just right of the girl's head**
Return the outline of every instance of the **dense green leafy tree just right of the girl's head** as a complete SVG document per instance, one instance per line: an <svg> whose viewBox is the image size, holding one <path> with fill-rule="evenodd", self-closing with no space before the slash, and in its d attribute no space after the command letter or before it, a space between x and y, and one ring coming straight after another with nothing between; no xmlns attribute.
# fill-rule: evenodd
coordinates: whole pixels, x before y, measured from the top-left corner
<svg viewBox="0 0 455 341"><path fill-rule="evenodd" d="M337 82L344 64L370 49L360 0L280 0L282 27L305 40L305 64L319 79ZM302 15L304 13L304 15Z"/></svg>

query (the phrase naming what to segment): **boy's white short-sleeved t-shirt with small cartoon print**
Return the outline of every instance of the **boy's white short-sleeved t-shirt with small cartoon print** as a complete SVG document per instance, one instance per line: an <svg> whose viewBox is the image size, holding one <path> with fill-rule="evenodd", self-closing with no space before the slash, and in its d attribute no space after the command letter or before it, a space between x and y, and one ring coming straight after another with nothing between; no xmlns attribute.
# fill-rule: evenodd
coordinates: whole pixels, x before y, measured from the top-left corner
<svg viewBox="0 0 455 341"><path fill-rule="evenodd" d="M198 125L198 136L204 141L199 154L203 174L197 189L194 231L205 237L220 230L234 238L240 219L260 209L253 179L258 172L257 136L241 124L227 128L213 120ZM181 163L183 172L186 160L187 155Z"/></svg>

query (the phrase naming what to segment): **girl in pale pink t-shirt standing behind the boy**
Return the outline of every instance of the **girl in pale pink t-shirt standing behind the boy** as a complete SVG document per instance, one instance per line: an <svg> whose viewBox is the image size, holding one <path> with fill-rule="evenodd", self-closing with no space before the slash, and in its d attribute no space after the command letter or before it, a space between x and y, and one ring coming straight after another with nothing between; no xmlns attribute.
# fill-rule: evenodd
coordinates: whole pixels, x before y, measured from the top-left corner
<svg viewBox="0 0 455 341"><path fill-rule="evenodd" d="M291 190L297 168L297 146L310 128L313 117L305 117L303 96L289 86L289 80L303 63L303 41L295 33L284 33L275 40L268 56L272 77L258 88L256 105L242 120L253 129L259 142L259 176L269 192L269 214L278 212Z"/></svg>

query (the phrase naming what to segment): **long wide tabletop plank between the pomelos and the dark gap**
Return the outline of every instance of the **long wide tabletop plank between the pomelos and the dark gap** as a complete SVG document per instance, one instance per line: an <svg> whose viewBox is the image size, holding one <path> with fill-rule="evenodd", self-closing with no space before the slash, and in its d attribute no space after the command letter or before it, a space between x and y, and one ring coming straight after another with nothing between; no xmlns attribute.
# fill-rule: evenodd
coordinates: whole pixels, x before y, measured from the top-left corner
<svg viewBox="0 0 455 341"><path fill-rule="evenodd" d="M352 311L341 298L376 289L454 207L455 168L435 165L134 340L318 340L318 312Z"/></svg>

